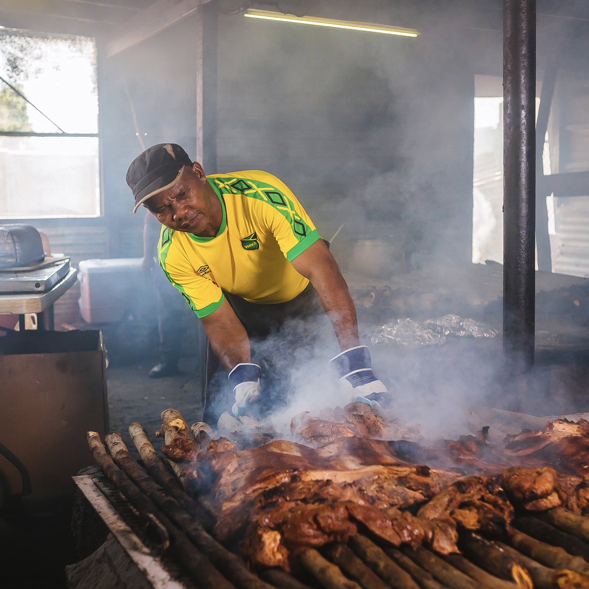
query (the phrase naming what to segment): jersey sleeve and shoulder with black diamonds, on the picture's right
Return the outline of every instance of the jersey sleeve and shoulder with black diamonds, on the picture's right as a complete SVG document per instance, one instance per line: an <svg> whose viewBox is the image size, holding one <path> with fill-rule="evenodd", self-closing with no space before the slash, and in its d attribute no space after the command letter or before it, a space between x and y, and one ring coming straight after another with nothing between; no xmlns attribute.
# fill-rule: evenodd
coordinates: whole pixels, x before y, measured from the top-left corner
<svg viewBox="0 0 589 589"><path fill-rule="evenodd" d="M289 188L275 176L262 173L272 184L251 178L215 178L221 191L244 194L266 203L261 207L264 224L272 231L289 262L321 239L313 221Z"/></svg>

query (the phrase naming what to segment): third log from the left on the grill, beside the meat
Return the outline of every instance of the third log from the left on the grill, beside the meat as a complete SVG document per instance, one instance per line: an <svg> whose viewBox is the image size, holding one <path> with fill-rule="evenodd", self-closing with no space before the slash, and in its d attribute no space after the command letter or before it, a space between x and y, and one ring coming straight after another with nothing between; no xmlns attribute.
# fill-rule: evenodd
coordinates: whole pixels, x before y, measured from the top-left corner
<svg viewBox="0 0 589 589"><path fill-rule="evenodd" d="M195 501L191 498L184 488L178 481L176 475L167 468L164 461L155 451L155 448L151 444L147 437L147 432L141 427L141 423L134 421L129 426L129 435L135 444L135 448L143 460L147 472L158 482L164 489L170 493L178 503L186 509L186 511L192 515L198 521L202 522L205 528L210 529L216 523L216 520L209 511L205 508L200 501Z"/></svg>

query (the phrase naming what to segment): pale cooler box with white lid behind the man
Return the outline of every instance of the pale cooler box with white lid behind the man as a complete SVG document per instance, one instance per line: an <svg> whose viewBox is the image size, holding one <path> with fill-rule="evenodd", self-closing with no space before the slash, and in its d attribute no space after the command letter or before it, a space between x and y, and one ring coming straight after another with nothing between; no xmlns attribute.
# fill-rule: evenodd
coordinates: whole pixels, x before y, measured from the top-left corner
<svg viewBox="0 0 589 589"><path fill-rule="evenodd" d="M87 323L115 323L128 313L153 312L154 287L141 258L81 260L80 314Z"/></svg>

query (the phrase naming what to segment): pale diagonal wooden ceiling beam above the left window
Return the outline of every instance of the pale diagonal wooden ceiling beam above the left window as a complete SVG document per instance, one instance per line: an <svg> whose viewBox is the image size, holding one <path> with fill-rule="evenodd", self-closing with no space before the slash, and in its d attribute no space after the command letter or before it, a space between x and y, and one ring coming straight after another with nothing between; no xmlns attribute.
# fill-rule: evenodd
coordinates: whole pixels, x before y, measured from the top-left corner
<svg viewBox="0 0 589 589"><path fill-rule="evenodd" d="M192 14L198 6L210 0L155 0L139 14L124 22L106 43L106 55L112 57L124 49L145 41L160 31L170 27L174 22Z"/></svg>

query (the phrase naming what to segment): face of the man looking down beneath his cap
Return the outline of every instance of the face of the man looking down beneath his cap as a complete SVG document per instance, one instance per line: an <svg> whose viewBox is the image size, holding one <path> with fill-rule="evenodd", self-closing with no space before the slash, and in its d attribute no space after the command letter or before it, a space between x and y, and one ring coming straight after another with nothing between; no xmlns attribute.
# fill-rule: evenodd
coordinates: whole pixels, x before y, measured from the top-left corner
<svg viewBox="0 0 589 589"><path fill-rule="evenodd" d="M210 229L211 193L203 168L195 162L182 168L173 186L148 198L145 207L162 225L198 235Z"/></svg>

